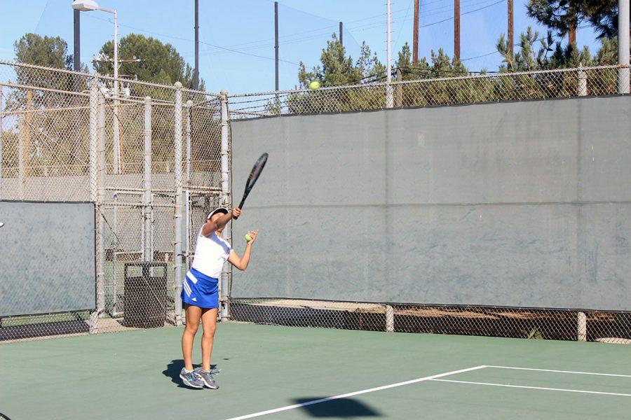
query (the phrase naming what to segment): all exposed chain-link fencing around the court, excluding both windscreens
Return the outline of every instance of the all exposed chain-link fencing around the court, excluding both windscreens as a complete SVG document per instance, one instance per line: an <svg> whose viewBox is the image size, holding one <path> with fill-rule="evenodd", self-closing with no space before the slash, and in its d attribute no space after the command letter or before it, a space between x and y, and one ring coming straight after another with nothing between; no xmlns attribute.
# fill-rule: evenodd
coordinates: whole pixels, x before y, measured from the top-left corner
<svg viewBox="0 0 631 420"><path fill-rule="evenodd" d="M0 199L97 204L95 310L0 311L0 340L182 323L197 232L208 209L230 203L229 118L611 95L621 69L226 95L132 80L118 80L116 92L109 77L0 62ZM222 318L233 321L631 342L629 312L230 299L230 271L220 286Z"/></svg>

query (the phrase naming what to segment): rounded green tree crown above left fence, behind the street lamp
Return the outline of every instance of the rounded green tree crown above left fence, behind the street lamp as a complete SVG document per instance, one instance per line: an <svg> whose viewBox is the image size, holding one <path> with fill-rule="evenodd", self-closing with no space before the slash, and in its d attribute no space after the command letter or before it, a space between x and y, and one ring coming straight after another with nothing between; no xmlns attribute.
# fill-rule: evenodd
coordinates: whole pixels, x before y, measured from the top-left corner
<svg viewBox="0 0 631 420"><path fill-rule="evenodd" d="M100 53L114 57L114 41L104 43ZM162 43L151 36L147 38L140 34L129 34L118 41L118 57L142 59L141 62L122 63L119 69L121 75L135 75L140 80L163 85L179 82L184 87L194 87L193 69L169 43ZM94 67L101 74L111 76L114 73L111 62L95 62ZM200 80L200 90L203 89L204 81Z"/></svg>

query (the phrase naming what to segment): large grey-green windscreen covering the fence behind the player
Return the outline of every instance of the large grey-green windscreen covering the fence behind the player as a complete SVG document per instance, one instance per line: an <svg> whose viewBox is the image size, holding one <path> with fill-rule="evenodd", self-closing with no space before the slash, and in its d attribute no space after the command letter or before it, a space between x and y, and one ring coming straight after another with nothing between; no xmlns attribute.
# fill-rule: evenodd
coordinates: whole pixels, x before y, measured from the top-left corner
<svg viewBox="0 0 631 420"><path fill-rule="evenodd" d="M631 97L234 121L233 297L631 309Z"/></svg>

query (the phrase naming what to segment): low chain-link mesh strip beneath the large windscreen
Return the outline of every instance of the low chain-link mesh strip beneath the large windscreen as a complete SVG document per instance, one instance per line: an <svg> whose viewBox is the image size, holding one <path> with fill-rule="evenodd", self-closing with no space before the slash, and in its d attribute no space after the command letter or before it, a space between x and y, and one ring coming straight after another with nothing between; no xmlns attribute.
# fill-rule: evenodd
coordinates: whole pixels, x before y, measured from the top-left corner
<svg viewBox="0 0 631 420"><path fill-rule="evenodd" d="M305 299L233 299L234 321L298 327L631 344L631 313Z"/></svg>

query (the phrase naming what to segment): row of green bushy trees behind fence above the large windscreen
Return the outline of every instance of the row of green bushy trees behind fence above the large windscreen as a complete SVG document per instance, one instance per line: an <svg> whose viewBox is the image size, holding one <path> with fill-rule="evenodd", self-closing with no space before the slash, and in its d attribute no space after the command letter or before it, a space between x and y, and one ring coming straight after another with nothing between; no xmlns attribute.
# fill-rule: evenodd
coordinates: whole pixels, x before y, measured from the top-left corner
<svg viewBox="0 0 631 420"><path fill-rule="evenodd" d="M604 38L601 48L592 57L587 47L562 45L553 31L539 34L531 27L520 35L517 52L508 51L508 42L502 34L497 49L504 57L500 73L515 71L541 71L571 69L579 66L613 64L616 60L615 40ZM386 86L368 84L380 80L385 69L376 55L362 45L360 58L346 56L344 48L333 36L320 57L321 64L307 71L301 64L298 78L302 88L312 80L323 87L349 85L344 90L308 90L287 95L284 104L279 99L267 105L269 113L321 113L380 109L386 106ZM472 76L459 60L449 57L442 48L432 51L429 59L423 57L412 62L412 52L405 43L398 53L395 82L419 80L419 83L393 83L393 103L400 106L428 106L470 104L520 99L569 97L579 92L579 74L576 71L538 73L515 77L463 77ZM480 71L486 73L484 69ZM611 73L611 74L610 74ZM588 94L615 92L615 71L585 73ZM381 77L380 77L381 76ZM283 99L282 97L280 99Z"/></svg>

